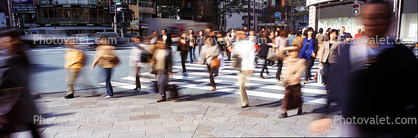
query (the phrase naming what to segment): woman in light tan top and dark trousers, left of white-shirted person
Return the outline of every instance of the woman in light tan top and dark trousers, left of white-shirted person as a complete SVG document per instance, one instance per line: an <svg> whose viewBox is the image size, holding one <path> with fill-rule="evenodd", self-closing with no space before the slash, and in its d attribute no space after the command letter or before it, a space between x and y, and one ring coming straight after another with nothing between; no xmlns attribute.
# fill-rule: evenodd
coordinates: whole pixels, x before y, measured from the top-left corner
<svg viewBox="0 0 418 138"><path fill-rule="evenodd" d="M216 89L215 80L213 79L213 73L219 66L216 67L213 65L216 64L215 61L218 59L218 56L220 54L219 46L216 45L214 41L215 40L213 39L213 37L205 36L205 45L202 47L199 61L200 65L206 64L208 68L209 80L210 84L212 85L211 91L214 91Z"/></svg>

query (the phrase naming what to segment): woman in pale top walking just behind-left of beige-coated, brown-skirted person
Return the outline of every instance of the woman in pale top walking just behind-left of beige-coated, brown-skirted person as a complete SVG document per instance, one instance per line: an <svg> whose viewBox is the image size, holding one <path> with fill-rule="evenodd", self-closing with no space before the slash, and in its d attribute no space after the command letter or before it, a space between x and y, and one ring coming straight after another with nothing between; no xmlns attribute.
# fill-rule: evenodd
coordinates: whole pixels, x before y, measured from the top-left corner
<svg viewBox="0 0 418 138"><path fill-rule="evenodd" d="M285 47L289 46L289 39L287 38L287 31L286 30L281 30L279 33L279 36L276 37L275 39L275 43L274 45L272 45L272 43L270 43L270 45L272 45L273 47L281 50ZM280 81L280 74L282 73L282 67L283 67L283 61L279 60L278 62L278 66L277 66L277 72L276 72L276 80Z"/></svg>

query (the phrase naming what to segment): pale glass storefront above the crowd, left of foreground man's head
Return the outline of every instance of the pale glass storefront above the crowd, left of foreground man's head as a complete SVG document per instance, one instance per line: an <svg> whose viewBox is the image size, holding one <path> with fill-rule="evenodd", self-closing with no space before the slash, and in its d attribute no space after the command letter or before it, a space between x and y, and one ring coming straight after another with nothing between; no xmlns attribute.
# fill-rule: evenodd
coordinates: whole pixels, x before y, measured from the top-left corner
<svg viewBox="0 0 418 138"><path fill-rule="evenodd" d="M357 34L358 29L364 30L364 26L359 17L340 17L318 20L318 29L322 28L324 31L328 28L341 29L342 26L344 26L345 31L351 33L352 36Z"/></svg>

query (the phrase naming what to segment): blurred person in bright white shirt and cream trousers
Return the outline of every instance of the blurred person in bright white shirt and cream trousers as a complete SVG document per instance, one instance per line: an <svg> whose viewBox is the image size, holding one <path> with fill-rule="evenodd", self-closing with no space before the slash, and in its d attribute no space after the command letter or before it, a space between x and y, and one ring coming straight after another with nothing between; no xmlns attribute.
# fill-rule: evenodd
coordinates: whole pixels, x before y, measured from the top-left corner
<svg viewBox="0 0 418 138"><path fill-rule="evenodd" d="M240 67L238 67L239 72L238 82L239 90L241 95L241 108L249 107L247 91L245 89L245 81L248 76L251 76L254 73L254 58L255 58L255 48L254 43L249 40L245 40L245 32L237 32L238 40L234 43L233 56L237 55L241 59Z"/></svg>

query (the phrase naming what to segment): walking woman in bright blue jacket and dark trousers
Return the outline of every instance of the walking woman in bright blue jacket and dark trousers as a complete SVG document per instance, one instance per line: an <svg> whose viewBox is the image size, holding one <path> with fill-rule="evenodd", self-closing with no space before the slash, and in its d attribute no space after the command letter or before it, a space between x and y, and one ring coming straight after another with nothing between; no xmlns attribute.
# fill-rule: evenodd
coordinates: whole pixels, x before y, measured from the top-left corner
<svg viewBox="0 0 418 138"><path fill-rule="evenodd" d="M306 72L304 84L307 84L308 80L311 78L311 68L314 64L316 57L315 53L317 53L318 51L318 41L314 37L315 34L312 27L309 27L305 30L304 36L306 36L306 38L303 39L302 49L298 58L306 59Z"/></svg>

